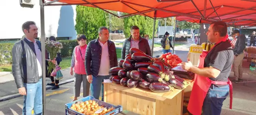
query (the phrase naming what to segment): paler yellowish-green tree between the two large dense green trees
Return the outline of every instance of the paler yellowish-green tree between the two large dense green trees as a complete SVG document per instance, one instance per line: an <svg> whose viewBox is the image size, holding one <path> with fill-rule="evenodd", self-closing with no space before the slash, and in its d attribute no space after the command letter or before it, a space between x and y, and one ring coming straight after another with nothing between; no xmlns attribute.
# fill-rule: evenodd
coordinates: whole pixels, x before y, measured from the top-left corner
<svg viewBox="0 0 256 115"><path fill-rule="evenodd" d="M113 14L116 14L119 16L119 12L117 11L109 11ZM116 16L111 15L111 30L116 31L116 30L124 30L124 21L122 18L118 18ZM106 12L106 26L109 29L109 13Z"/></svg>

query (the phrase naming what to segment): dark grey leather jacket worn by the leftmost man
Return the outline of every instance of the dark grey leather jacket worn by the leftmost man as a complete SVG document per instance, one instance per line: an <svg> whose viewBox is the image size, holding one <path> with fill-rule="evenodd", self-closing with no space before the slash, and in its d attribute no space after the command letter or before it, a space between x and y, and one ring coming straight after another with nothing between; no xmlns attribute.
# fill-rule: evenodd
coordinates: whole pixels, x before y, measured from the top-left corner
<svg viewBox="0 0 256 115"><path fill-rule="evenodd" d="M26 38L24 38L26 39ZM17 88L24 87L24 83L37 83L42 76L39 76L37 69L37 57L33 50L30 48L28 44L32 45L33 42L28 40L20 40L13 45L12 49L12 73L15 79L15 83ZM22 42L24 43L24 49L26 55L26 65L23 64L22 58L24 58L22 53ZM39 40L35 40L39 49L41 50L41 42ZM26 71L24 71L26 70ZM26 74L26 75L24 75Z"/></svg>

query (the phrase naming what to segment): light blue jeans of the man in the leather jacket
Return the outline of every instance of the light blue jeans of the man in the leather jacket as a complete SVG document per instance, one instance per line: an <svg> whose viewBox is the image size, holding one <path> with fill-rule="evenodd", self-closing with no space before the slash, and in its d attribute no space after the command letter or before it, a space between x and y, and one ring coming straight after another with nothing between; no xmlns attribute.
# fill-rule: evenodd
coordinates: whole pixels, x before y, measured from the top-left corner
<svg viewBox="0 0 256 115"><path fill-rule="evenodd" d="M41 115L43 111L42 78L37 83L24 83L27 95L24 96L22 115L31 115L34 109L35 115Z"/></svg>

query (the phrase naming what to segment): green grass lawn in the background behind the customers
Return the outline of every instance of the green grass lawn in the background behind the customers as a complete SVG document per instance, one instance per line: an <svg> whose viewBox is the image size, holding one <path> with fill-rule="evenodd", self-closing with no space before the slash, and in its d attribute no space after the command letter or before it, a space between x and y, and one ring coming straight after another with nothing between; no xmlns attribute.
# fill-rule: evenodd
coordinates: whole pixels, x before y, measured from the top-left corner
<svg viewBox="0 0 256 115"><path fill-rule="evenodd" d="M59 66L61 69L67 69L71 65L71 56L62 58ZM121 58L121 49L117 49L117 58ZM11 65L2 65L0 66L0 72L11 72Z"/></svg>

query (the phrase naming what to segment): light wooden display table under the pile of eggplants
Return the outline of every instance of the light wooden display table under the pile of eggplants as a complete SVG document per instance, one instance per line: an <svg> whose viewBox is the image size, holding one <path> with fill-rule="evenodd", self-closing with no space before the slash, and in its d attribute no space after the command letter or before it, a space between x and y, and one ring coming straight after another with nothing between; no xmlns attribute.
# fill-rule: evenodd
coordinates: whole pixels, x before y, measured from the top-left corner
<svg viewBox="0 0 256 115"><path fill-rule="evenodd" d="M104 83L104 102L121 105L123 110L140 115L182 115L183 97L184 90L155 93L139 86L128 88L121 84Z"/></svg>

